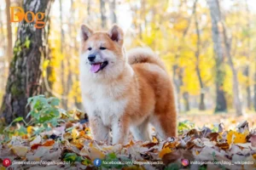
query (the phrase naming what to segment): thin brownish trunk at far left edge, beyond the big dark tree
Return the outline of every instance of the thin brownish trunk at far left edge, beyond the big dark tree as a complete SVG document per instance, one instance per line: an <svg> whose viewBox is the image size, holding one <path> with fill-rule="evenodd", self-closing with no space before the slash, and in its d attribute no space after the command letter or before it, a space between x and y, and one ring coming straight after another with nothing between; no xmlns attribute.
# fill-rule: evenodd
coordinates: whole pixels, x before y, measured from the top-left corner
<svg viewBox="0 0 256 170"><path fill-rule="evenodd" d="M13 55L13 39L12 39L12 27L11 27L11 22L10 22L10 0L6 0L6 20L7 20L7 58L8 58L8 63L10 63Z"/></svg>

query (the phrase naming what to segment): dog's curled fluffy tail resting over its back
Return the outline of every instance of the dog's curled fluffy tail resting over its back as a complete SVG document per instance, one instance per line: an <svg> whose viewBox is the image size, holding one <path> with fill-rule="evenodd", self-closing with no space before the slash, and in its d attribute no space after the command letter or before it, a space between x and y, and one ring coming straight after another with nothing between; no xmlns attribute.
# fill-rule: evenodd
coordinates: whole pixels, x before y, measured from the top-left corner
<svg viewBox="0 0 256 170"><path fill-rule="evenodd" d="M166 70L164 63L154 54L151 48L133 48L127 52L127 57L130 65L150 63L159 65L162 69Z"/></svg>

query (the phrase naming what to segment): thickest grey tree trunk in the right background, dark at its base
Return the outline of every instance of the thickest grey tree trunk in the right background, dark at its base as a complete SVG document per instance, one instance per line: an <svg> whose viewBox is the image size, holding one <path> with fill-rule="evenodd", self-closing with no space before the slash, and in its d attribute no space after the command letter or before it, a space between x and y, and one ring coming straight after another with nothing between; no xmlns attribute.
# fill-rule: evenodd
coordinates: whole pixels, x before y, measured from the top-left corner
<svg viewBox="0 0 256 170"><path fill-rule="evenodd" d="M215 112L227 111L226 99L224 96L224 53L222 48L221 32L218 23L221 20L218 0L207 0L212 18L212 41L216 61L216 108Z"/></svg>

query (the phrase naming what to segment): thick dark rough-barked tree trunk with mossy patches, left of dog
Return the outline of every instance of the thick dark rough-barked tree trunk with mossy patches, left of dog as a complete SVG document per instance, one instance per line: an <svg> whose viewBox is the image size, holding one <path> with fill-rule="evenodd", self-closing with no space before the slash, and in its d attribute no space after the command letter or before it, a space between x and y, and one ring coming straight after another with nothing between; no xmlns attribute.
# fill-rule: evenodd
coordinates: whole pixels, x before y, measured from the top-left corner
<svg viewBox="0 0 256 170"><path fill-rule="evenodd" d="M47 8L50 1L26 0L23 1L25 13L45 13L44 22L48 20ZM47 11L47 12L46 12ZM31 20L31 15L28 15ZM6 123L12 122L17 116L26 117L28 108L26 101L29 97L41 92L42 50L44 50L44 28L36 29L34 26L26 26L26 20L21 21L18 28L18 36L15 42L14 58L9 66L9 77L5 95L0 110Z"/></svg>

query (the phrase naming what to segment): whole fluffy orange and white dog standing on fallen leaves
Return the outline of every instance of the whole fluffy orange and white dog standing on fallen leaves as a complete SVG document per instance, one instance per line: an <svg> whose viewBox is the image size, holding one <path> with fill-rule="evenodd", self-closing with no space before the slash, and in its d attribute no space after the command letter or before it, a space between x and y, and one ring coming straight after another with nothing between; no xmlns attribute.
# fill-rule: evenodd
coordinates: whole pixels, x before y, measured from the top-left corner
<svg viewBox="0 0 256 170"><path fill-rule="evenodd" d="M81 26L80 86L94 139L113 144L150 140L149 123L161 139L177 135L174 90L162 61L150 48L127 54L124 33Z"/></svg>

